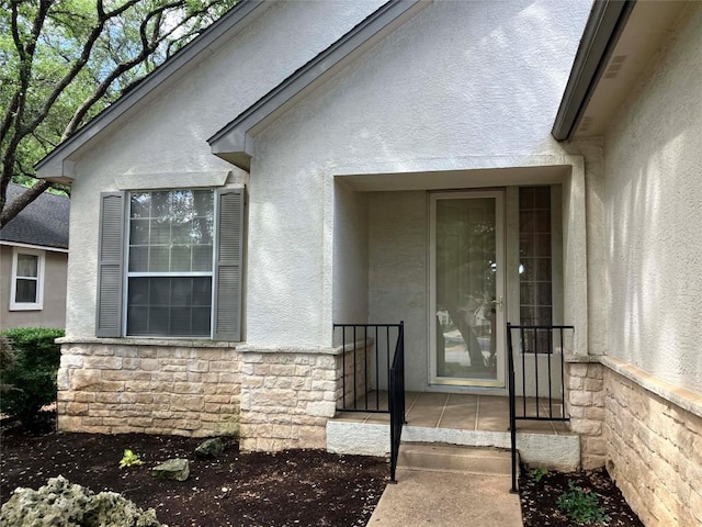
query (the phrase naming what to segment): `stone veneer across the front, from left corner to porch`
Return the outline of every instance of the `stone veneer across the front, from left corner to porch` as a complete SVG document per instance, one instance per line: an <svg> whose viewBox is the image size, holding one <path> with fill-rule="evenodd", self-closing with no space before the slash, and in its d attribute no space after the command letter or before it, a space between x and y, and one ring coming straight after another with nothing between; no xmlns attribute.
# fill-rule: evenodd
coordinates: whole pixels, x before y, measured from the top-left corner
<svg viewBox="0 0 702 527"><path fill-rule="evenodd" d="M244 451L326 448L327 421L343 386L351 400L352 372L365 367L366 351L346 354L343 383L338 348L67 340L58 373L59 430L238 435Z"/></svg>

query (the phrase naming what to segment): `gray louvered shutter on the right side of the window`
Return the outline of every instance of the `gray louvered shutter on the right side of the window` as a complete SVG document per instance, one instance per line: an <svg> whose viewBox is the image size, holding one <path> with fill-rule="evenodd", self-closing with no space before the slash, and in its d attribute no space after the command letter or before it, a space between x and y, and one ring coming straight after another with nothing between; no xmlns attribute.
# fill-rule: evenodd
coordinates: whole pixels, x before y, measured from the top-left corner
<svg viewBox="0 0 702 527"><path fill-rule="evenodd" d="M238 341L241 340L244 189L218 190L217 204L214 338Z"/></svg>

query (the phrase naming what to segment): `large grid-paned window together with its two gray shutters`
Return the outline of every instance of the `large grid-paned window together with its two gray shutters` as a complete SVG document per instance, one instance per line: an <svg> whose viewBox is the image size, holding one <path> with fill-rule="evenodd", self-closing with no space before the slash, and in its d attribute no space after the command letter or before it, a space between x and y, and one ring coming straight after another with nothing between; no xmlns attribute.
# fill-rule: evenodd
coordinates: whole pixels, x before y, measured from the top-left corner
<svg viewBox="0 0 702 527"><path fill-rule="evenodd" d="M241 338L244 189L101 197L95 335Z"/></svg>

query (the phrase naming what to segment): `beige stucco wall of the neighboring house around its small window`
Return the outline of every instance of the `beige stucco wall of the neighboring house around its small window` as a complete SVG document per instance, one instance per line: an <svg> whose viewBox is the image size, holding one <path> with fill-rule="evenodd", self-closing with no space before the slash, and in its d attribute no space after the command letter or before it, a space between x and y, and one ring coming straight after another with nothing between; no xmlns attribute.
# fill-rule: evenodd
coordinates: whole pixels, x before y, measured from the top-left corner
<svg viewBox="0 0 702 527"><path fill-rule="evenodd" d="M0 246L0 329L10 327L57 327L66 325L66 253L44 253L44 303L37 311L9 311L12 279L12 247Z"/></svg>

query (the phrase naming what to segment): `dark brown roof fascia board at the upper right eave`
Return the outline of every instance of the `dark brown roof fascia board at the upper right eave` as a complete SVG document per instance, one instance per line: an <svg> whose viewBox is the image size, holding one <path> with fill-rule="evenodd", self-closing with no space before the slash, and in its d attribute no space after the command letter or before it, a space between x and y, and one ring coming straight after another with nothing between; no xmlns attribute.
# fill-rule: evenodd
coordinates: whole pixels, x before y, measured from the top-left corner
<svg viewBox="0 0 702 527"><path fill-rule="evenodd" d="M551 135L570 141L636 0L595 0Z"/></svg>

